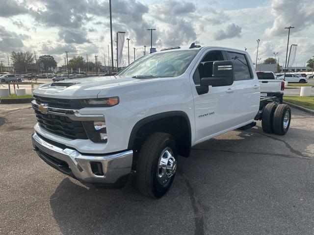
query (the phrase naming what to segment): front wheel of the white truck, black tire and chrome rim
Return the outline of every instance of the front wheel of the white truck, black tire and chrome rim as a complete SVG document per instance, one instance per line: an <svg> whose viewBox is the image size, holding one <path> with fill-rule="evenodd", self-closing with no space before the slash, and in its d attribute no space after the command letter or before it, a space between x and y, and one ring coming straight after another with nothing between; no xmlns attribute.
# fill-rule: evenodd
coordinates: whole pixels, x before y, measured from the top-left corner
<svg viewBox="0 0 314 235"><path fill-rule="evenodd" d="M136 165L139 191L148 197L162 197L172 185L177 160L173 136L159 132L150 135L142 145Z"/></svg>

